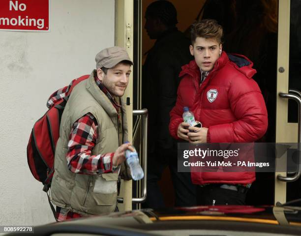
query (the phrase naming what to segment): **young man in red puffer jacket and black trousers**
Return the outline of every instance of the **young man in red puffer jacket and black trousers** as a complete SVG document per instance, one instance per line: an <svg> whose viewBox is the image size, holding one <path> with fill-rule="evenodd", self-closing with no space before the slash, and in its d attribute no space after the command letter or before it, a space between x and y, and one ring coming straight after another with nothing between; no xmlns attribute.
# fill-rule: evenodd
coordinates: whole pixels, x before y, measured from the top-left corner
<svg viewBox="0 0 301 236"><path fill-rule="evenodd" d="M267 109L252 79L253 63L223 52L222 34L214 20L202 20L191 28L190 53L195 59L182 66L177 103L170 112L169 130L175 139L192 144L252 143L267 130ZM185 106L202 123L201 129L183 122ZM191 172L191 178L200 186L198 204L244 205L255 173Z"/></svg>

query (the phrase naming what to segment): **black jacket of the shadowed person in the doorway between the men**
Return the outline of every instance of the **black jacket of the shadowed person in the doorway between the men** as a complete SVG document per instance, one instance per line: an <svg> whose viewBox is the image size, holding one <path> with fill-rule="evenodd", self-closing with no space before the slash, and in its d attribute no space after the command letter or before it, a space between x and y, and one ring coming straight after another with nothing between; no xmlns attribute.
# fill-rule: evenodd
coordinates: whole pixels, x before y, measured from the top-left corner
<svg viewBox="0 0 301 236"><path fill-rule="evenodd" d="M149 151L175 148L169 112L176 104L181 66L192 56L190 40L177 28L166 31L148 52L143 66L143 107L149 110Z"/></svg>

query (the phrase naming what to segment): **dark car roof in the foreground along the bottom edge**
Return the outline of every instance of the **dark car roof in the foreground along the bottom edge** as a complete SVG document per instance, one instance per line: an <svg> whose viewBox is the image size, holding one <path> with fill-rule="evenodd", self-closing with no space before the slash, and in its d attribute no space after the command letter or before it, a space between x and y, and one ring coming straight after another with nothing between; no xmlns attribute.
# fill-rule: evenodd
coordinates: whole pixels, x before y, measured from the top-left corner
<svg viewBox="0 0 301 236"><path fill-rule="evenodd" d="M301 207L142 209L48 224L33 230L34 235L40 236L290 236L301 235Z"/></svg>

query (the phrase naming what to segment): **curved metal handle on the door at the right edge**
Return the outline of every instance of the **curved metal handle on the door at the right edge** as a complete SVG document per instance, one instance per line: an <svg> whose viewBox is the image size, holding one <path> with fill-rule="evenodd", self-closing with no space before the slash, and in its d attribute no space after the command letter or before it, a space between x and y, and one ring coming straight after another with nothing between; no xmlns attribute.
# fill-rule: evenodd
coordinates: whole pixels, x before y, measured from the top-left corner
<svg viewBox="0 0 301 236"><path fill-rule="evenodd" d="M295 93L283 93L280 92L279 96L282 98L293 99L298 103L298 172L295 173L292 177L284 177L277 175L277 179L284 182L293 182L296 181L301 176L301 160L300 160L300 137L301 137L301 92L299 90L290 89L289 92ZM297 94L297 95L296 95Z"/></svg>

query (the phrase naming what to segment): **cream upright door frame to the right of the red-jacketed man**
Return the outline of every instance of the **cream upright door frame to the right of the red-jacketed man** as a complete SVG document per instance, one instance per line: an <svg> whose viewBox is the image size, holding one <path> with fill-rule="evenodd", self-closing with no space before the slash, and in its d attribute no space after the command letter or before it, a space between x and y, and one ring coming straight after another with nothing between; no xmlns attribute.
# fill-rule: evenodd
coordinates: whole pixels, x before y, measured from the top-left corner
<svg viewBox="0 0 301 236"><path fill-rule="evenodd" d="M277 93L276 93L276 143L297 143L298 123L288 123L288 99L279 93L289 90L289 54L290 54L290 16L291 1L279 0L278 4L278 51L277 51ZM284 68L284 71L280 69ZM276 158L276 170L285 170L286 156ZM279 167L279 168L277 168ZM280 168L281 167L281 168ZM286 182L277 176L287 176L286 172L275 172L274 204L286 202Z"/></svg>

